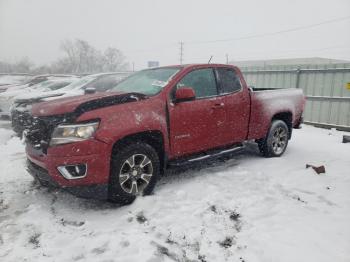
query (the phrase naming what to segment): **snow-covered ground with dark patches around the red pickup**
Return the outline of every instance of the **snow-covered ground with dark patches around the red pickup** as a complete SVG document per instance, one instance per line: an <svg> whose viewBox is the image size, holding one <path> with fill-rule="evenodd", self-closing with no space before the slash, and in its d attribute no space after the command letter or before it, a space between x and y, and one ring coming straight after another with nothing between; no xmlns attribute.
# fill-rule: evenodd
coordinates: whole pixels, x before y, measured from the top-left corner
<svg viewBox="0 0 350 262"><path fill-rule="evenodd" d="M350 261L350 144L341 132L304 126L281 158L251 146L168 172L154 195L117 207L34 185L6 125L0 261Z"/></svg>

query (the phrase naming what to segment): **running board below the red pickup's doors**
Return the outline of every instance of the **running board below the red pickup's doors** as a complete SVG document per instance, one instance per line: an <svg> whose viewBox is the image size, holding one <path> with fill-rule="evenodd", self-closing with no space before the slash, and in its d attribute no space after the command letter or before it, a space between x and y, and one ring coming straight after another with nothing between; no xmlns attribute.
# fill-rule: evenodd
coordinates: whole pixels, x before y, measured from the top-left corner
<svg viewBox="0 0 350 262"><path fill-rule="evenodd" d="M218 158L220 156L224 156L226 154L230 154L230 153L237 153L240 152L244 149L243 145L239 145L239 146L235 146L229 149L223 149L223 150L213 150L204 154L197 154L195 156L192 157L188 157L188 158L181 158L181 159L176 159L176 160L171 160L168 162L168 165L171 167L175 167L175 166L183 166L183 165L188 165L191 163L196 163L196 162L200 162L203 160L212 160L215 158Z"/></svg>

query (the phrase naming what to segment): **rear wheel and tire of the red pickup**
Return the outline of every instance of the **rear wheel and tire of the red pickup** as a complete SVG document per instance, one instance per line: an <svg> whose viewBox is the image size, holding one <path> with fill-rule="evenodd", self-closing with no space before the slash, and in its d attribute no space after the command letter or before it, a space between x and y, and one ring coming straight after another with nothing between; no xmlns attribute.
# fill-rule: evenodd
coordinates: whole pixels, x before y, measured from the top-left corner
<svg viewBox="0 0 350 262"><path fill-rule="evenodd" d="M274 120L267 136L257 141L261 154L265 157L280 157L286 151L289 129L282 120Z"/></svg>

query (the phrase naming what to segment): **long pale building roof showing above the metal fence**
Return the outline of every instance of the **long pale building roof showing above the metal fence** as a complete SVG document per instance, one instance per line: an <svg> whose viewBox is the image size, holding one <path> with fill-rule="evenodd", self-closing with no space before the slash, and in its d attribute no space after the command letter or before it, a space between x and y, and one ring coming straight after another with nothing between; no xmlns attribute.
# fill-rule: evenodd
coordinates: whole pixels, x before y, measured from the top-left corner
<svg viewBox="0 0 350 262"><path fill-rule="evenodd" d="M272 66L272 65L341 64L341 63L350 63L350 61L322 58L322 57L230 61L230 64L234 64L239 67L248 67L248 66L260 67L260 66Z"/></svg>

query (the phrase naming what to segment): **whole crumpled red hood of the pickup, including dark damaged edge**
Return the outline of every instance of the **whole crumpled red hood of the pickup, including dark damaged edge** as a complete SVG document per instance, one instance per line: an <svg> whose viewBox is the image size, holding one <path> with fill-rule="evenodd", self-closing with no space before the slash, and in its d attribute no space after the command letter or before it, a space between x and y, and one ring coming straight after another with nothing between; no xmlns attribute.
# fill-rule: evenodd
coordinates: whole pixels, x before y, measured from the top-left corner
<svg viewBox="0 0 350 262"><path fill-rule="evenodd" d="M33 116L62 115L76 112L78 115L84 112L112 106L116 104L138 101L145 98L138 93L104 92L79 96L58 98L48 102L34 104Z"/></svg>

